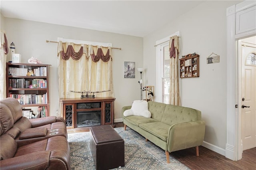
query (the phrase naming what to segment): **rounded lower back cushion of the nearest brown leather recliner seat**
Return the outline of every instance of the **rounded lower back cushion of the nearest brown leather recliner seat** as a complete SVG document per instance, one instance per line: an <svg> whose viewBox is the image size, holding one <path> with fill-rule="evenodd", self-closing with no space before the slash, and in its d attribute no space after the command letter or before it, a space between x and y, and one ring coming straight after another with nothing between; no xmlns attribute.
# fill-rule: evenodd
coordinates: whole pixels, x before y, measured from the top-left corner
<svg viewBox="0 0 256 170"><path fill-rule="evenodd" d="M17 143L9 134L0 137L0 160L12 158L17 150Z"/></svg>

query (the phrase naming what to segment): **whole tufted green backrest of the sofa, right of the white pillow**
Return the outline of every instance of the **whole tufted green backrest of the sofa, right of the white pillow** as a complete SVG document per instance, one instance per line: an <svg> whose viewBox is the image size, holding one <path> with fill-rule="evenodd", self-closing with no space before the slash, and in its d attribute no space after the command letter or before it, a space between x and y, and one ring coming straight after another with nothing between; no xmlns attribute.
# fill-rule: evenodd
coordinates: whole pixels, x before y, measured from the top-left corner
<svg viewBox="0 0 256 170"><path fill-rule="evenodd" d="M201 120L201 111L188 107L148 101L148 110L151 112L151 118L170 126L176 123Z"/></svg>

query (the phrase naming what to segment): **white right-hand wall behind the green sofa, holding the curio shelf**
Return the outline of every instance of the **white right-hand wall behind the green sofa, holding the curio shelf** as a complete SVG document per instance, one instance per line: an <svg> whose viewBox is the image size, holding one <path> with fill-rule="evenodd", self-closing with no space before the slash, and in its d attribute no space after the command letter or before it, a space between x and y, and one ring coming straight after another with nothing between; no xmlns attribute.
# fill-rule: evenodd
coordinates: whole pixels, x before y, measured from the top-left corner
<svg viewBox="0 0 256 170"><path fill-rule="evenodd" d="M239 2L204 2L144 37L148 85L156 85L156 40L180 31L180 55L200 55L200 77L180 79L182 106L202 111L206 122L204 145L210 143L222 154L226 144L226 8ZM220 63L206 64L212 52L220 55Z"/></svg>

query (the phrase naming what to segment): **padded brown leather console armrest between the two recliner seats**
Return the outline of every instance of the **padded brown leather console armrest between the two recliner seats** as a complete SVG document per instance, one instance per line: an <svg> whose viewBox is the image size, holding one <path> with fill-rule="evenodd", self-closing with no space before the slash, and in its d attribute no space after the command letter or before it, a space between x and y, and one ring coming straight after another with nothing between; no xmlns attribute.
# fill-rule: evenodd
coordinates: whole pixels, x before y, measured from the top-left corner
<svg viewBox="0 0 256 170"><path fill-rule="evenodd" d="M47 134L46 127L28 128L20 134L20 140L44 137Z"/></svg>

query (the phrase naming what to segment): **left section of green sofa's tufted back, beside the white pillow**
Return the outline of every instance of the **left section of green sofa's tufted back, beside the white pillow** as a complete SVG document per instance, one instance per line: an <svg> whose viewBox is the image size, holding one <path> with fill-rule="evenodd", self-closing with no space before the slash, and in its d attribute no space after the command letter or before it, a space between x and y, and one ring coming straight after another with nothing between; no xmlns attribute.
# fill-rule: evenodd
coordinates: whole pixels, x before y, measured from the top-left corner
<svg viewBox="0 0 256 170"><path fill-rule="evenodd" d="M151 118L156 119L158 122L162 120L165 107L165 103L148 101L148 111L151 113Z"/></svg>

